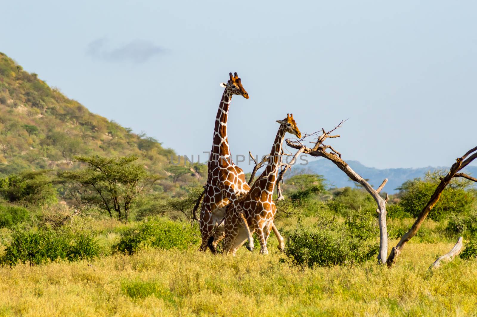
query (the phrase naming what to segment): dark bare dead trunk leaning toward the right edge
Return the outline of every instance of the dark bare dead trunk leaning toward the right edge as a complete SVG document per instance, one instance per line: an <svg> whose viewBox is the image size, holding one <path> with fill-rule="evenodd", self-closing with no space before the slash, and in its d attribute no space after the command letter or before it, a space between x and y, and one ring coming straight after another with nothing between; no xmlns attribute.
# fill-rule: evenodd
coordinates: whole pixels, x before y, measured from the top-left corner
<svg viewBox="0 0 477 317"><path fill-rule="evenodd" d="M419 228L421 227L425 218L427 217L427 215L429 215L429 212L431 211L431 209L439 201L439 198L441 197L442 191L444 190L444 188L446 188L447 184L450 183L450 181L452 180L453 177L464 177L464 178L476 181L476 179L474 177L471 177L467 174L457 173L461 169L466 167L470 162L472 162L476 158L477 158L477 146L475 148L469 150L462 157L457 157L456 163L452 164L449 173L447 173L446 176L441 177L441 182L437 185L436 190L434 191L434 194L432 194L431 199L429 200L427 205L425 205L425 207L423 208L421 213L417 216L417 219L416 219L414 225L411 227L411 229L405 235L403 235L401 240L391 250L391 253L389 254L389 257L386 261L386 263L389 267L393 266L393 264L396 263L396 259L401 254L401 252L404 248L404 245L413 236L415 236L415 234L417 233L417 230L419 230Z"/></svg>

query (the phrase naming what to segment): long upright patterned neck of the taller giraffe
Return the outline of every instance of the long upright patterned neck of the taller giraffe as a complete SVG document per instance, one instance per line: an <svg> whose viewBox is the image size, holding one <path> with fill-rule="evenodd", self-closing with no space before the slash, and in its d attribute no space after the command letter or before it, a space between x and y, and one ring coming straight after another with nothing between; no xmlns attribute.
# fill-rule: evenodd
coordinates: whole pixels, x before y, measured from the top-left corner
<svg viewBox="0 0 477 317"><path fill-rule="evenodd" d="M231 156L227 138L228 109L231 100L232 94L230 94L226 88L222 94L215 119L214 140L212 150L210 151L210 161L218 162L219 159L221 159L220 161L228 160Z"/></svg>

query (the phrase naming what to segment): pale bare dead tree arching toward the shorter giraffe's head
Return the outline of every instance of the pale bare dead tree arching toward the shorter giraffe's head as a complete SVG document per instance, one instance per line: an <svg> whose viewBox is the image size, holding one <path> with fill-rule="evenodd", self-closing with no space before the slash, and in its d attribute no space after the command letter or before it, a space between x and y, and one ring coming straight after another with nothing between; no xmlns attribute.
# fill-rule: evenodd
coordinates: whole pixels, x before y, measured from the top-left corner
<svg viewBox="0 0 477 317"><path fill-rule="evenodd" d="M336 166L338 166L339 169L341 169L346 175L348 175L349 178L351 178L353 181L359 184L362 184L364 189L366 189L366 191L371 196L373 196L378 206L378 208L376 209L376 212L379 215L378 222L379 222L380 247L379 247L378 261L384 264L386 263L386 256L387 256L386 203L389 197L386 194L386 198L384 199L383 197L381 197L379 193L381 192L384 185L386 184L387 178L384 179L383 183L377 189L374 189L373 186L371 186L358 173L354 172L353 169L345 161L342 160L341 153L333 149L331 145L323 144L323 142L328 138L340 137L339 135L332 135L331 133L335 131L336 129L340 128L343 122L344 121L342 121L340 124L334 127L334 129L328 132L326 132L324 129L321 129L321 131L318 131L309 135L305 135L303 138L301 138L298 141L290 141L290 139L287 139L286 142L288 146L298 149L299 152L301 151L302 153L310 154L311 156L319 156L319 157L321 156L332 161ZM318 140L316 142L311 142L311 143L314 143L314 146L312 148L308 148L301 143L306 137L318 135L318 133L321 133L321 135L318 136ZM330 149L331 152L326 152L326 150L328 149Z"/></svg>

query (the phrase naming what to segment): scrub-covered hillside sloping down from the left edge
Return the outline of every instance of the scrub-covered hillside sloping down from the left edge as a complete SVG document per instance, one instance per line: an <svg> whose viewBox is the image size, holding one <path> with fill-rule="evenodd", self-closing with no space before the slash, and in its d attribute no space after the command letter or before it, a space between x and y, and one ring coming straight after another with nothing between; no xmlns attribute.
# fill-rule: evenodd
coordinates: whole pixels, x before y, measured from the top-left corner
<svg viewBox="0 0 477 317"><path fill-rule="evenodd" d="M0 176L74 169L75 155L95 154L137 155L150 173L164 176L164 191L200 182L192 172L179 181L173 177L169 162L176 153L172 149L90 112L0 53Z"/></svg>

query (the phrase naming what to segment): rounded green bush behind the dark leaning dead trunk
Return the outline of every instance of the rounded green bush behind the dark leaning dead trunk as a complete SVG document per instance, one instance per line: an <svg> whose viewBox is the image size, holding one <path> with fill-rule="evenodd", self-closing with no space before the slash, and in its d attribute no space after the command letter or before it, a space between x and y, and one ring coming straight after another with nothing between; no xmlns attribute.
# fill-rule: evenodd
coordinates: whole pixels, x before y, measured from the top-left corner
<svg viewBox="0 0 477 317"><path fill-rule="evenodd" d="M426 174L424 180L416 178L402 184L398 188L401 196L399 206L402 207L402 211L417 217L436 190L439 177L442 174L442 171L436 171ZM444 189L428 217L438 221L446 219L452 214L469 212L475 201L474 194L469 190L470 184L466 179L454 178L451 184Z"/></svg>

